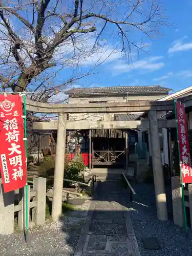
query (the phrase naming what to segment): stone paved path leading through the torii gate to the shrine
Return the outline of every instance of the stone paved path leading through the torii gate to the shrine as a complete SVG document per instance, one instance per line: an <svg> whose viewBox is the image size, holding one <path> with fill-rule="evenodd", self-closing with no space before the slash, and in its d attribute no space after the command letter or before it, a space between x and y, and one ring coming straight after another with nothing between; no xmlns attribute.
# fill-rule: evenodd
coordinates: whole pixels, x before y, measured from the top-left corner
<svg viewBox="0 0 192 256"><path fill-rule="evenodd" d="M118 181L98 184L74 256L140 256Z"/></svg>

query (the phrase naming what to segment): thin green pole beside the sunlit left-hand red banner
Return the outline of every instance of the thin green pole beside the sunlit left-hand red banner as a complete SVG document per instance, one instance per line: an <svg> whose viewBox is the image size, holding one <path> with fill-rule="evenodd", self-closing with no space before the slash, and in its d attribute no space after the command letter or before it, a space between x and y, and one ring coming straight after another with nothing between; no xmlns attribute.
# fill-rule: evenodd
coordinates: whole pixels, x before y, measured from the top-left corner
<svg viewBox="0 0 192 256"><path fill-rule="evenodd" d="M24 131L25 131L25 155L26 155L26 166L27 166L27 116L26 116L26 95L24 95ZM28 223L28 184L26 183L25 186L25 205L26 205L26 230L25 230L25 237L26 237L26 242L28 239L28 228L29 228L29 223Z"/></svg>

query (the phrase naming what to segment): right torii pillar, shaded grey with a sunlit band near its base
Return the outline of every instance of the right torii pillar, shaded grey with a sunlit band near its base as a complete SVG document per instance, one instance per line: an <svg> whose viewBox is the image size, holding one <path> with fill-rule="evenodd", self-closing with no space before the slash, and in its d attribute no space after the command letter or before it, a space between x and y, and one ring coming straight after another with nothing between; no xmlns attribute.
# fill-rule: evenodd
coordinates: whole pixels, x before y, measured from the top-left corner
<svg viewBox="0 0 192 256"><path fill-rule="evenodd" d="M150 121L150 138L152 142L152 163L155 184L157 218L159 220L166 221L168 220L168 217L163 177L163 166L161 161L157 112L154 110L150 110L148 112L148 118Z"/></svg>

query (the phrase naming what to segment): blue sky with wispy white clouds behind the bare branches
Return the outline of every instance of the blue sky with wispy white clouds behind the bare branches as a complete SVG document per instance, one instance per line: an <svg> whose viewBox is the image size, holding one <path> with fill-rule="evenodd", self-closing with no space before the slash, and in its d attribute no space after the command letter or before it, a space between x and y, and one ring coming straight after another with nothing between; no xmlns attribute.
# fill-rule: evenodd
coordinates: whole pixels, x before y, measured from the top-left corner
<svg viewBox="0 0 192 256"><path fill-rule="evenodd" d="M150 1L142 2L141 7L144 8L141 8L141 11L146 9L146 6L143 5L146 5L148 2ZM101 12L106 11L112 19L117 20L118 18L121 20L126 8L128 8L126 4L128 3L127 5L129 5L131 2L122 0L117 5L115 1L111 0L110 3L113 3L113 9L110 12L108 10L102 10ZM36 77L36 79L33 79L30 86L28 86L28 90L34 91L42 80L45 81L48 88L56 87L65 83L71 77L80 76L92 69L92 72L95 73L94 75L75 81L75 83L72 83L72 87L152 86L159 84L160 86L173 89L173 91L179 91L192 86L192 67L190 65L192 57L192 2L191 0L183 2L161 0L161 3L162 14L168 16L167 24L169 24L169 26L162 27L161 32L163 35L149 39L144 33L134 31L132 26L124 27L124 31L127 32L129 39L136 42L137 45L144 46L145 52L140 51L138 54L136 48L132 47L130 57L123 56L121 53L121 39L117 35L117 27L109 23L99 37L100 48L92 52L91 56L88 56L89 50L91 51L95 39L105 23L105 21L97 20L96 32L86 35L81 34L81 37L77 37L75 54L72 41L64 42L57 49L53 59L57 64L60 63L60 66L48 69ZM70 8L74 10L74 6ZM98 13L98 10L100 10L100 6L96 5L93 7L93 11L96 13ZM30 12L21 13L26 18L28 14L31 14ZM18 35L23 37L26 48L33 52L34 39L31 40L31 33L26 31L26 28L22 29L24 25L18 22L16 17L12 16L11 24ZM86 24L85 26L87 27L94 25L93 20L86 20ZM47 19L43 34L48 41L50 40L51 42L54 38L54 33L51 34L52 32L50 31L58 30L57 20L54 23L52 19ZM83 40L83 36L87 37L86 40ZM5 37L5 35L3 34L2 37ZM0 55L5 54L6 57L9 47L7 47L3 40L0 46ZM7 48L6 50L5 47ZM30 59L26 54L26 48L20 51L20 55L25 59L27 66L30 65ZM80 48L80 51L78 48ZM78 51L80 52L80 57ZM101 64L95 68L95 63ZM10 77L9 73L12 72L12 69L8 69L7 66L5 68L5 71L8 73L6 73L7 77ZM62 87L61 90L65 91L70 88L71 86Z"/></svg>

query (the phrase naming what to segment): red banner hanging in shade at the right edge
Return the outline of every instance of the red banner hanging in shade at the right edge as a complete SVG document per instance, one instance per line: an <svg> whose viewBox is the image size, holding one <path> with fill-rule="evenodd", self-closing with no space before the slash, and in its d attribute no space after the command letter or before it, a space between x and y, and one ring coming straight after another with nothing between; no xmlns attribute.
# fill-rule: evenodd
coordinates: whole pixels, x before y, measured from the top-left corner
<svg viewBox="0 0 192 256"><path fill-rule="evenodd" d="M190 151L188 143L187 118L185 114L185 106L180 102L176 102L178 139L180 151L180 168L183 183L192 183L192 172L190 162Z"/></svg>

